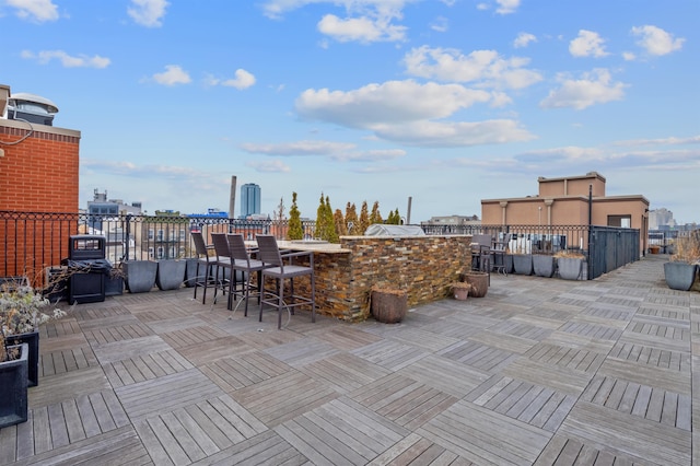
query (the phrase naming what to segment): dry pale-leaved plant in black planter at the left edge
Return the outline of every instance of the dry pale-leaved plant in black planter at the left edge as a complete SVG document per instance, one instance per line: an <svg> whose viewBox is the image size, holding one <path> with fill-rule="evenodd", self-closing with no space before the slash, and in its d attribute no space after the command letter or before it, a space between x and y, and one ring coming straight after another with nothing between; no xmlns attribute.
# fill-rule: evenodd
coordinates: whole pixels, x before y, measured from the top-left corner
<svg viewBox="0 0 700 466"><path fill-rule="evenodd" d="M49 304L49 300L35 291L28 281L5 281L0 289L0 336L3 340L0 352L10 345L28 346L28 386L38 385L39 325L66 315L59 308L54 308L48 314L43 312Z"/></svg>

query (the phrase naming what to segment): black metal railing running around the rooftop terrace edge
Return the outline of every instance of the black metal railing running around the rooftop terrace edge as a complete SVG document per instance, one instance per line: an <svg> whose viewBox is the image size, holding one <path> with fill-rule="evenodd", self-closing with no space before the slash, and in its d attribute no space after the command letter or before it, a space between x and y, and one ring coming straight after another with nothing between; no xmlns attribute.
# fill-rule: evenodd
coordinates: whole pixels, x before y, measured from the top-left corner
<svg viewBox="0 0 700 466"><path fill-rule="evenodd" d="M315 237L315 222L302 221L305 238ZM637 260L639 230L586 225L444 225L422 224L427 234L490 234L508 241L514 253L557 254L579 252L588 259L588 279ZM68 257L70 236L106 238L105 258L118 265L133 259L195 256L191 233L241 233L247 240L273 234L287 237L288 220L244 220L212 215L96 215L0 211L0 277L27 276L43 283L44 270Z"/></svg>

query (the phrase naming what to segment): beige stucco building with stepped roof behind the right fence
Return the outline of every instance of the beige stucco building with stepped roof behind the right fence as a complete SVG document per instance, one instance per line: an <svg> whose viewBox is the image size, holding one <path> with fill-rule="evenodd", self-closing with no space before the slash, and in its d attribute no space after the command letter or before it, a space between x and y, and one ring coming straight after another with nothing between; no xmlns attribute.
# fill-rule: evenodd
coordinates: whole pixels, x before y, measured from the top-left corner
<svg viewBox="0 0 700 466"><path fill-rule="evenodd" d="M640 230L642 251L649 230L649 200L642 195L606 196L606 179L597 172L582 176L537 179L537 196L481 200L485 225L587 225Z"/></svg>

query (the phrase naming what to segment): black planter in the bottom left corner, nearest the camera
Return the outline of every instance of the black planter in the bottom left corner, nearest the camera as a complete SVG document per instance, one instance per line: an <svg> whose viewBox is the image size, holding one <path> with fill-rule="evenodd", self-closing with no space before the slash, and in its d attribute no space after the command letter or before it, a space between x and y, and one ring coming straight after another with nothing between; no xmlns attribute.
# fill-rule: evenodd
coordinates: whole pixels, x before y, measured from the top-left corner
<svg viewBox="0 0 700 466"><path fill-rule="evenodd" d="M0 362L0 429L26 422L28 345L19 348L20 359Z"/></svg>

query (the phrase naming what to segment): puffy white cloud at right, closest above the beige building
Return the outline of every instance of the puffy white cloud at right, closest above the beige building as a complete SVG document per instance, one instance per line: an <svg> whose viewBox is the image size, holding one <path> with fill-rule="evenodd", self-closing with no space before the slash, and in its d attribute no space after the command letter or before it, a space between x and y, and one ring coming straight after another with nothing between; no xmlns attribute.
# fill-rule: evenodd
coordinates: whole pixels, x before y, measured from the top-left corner
<svg viewBox="0 0 700 466"><path fill-rule="evenodd" d="M572 107L581 110L594 104L622 100L625 88L628 86L621 82L612 82L610 72L606 69L595 69L584 73L579 80L564 75L558 77L558 80L561 86L550 91L549 95L539 103L540 107Z"/></svg>

